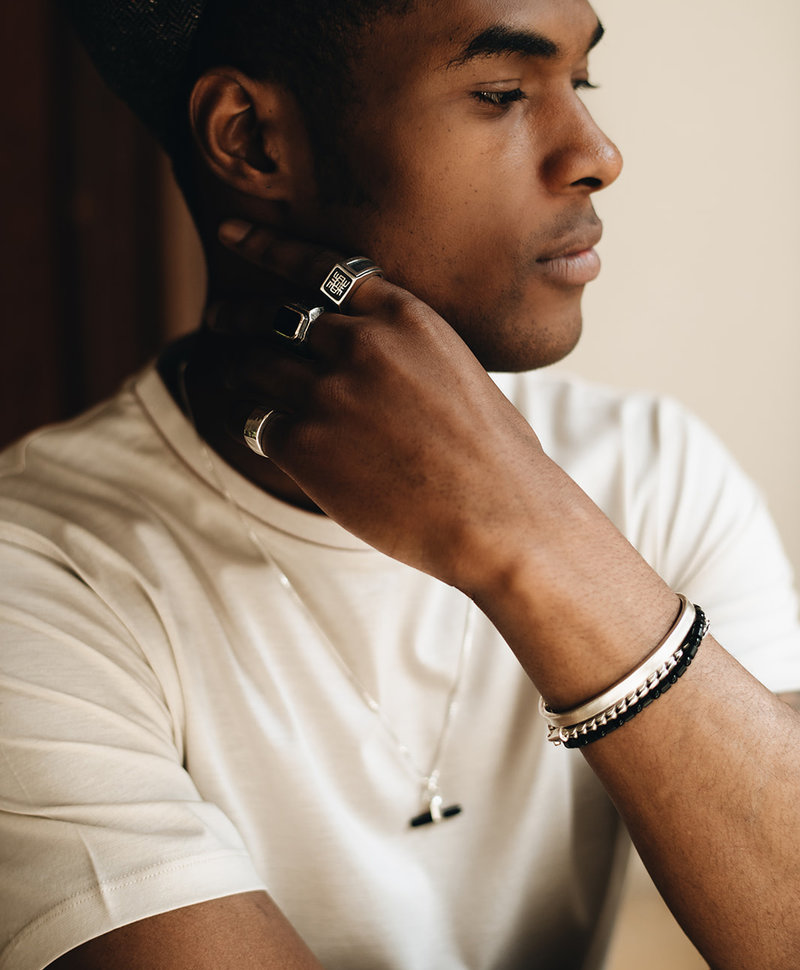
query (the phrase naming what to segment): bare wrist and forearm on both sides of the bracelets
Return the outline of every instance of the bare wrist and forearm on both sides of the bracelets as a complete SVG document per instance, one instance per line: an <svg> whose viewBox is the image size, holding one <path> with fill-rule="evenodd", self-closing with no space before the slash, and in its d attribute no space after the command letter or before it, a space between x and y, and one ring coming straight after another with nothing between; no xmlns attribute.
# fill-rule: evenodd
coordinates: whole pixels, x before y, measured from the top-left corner
<svg viewBox="0 0 800 970"><path fill-rule="evenodd" d="M476 600L563 709L636 667L678 602L563 473L540 486L535 552ZM798 747L800 717L706 637L674 689L582 749L715 967L785 968L800 951Z"/></svg>

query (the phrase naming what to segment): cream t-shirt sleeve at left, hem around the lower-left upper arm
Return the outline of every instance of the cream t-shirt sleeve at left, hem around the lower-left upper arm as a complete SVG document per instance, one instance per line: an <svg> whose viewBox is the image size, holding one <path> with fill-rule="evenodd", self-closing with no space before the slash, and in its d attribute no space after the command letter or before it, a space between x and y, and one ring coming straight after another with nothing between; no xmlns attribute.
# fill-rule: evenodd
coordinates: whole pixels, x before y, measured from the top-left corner
<svg viewBox="0 0 800 970"><path fill-rule="evenodd" d="M146 653L63 555L3 527L0 970L264 888L183 767L180 696L155 669L168 662L152 628Z"/></svg>

